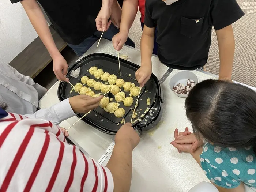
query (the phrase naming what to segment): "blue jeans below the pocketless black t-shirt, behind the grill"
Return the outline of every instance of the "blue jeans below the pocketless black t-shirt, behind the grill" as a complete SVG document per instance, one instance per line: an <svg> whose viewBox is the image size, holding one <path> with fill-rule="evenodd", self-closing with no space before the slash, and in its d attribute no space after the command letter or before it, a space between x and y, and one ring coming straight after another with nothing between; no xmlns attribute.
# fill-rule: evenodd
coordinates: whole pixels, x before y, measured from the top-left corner
<svg viewBox="0 0 256 192"><path fill-rule="evenodd" d="M112 41L112 38L117 33L119 33L119 29L117 29L111 23L109 29L107 31L104 31L102 38ZM102 34L101 31L97 31L90 37L84 39L84 41L82 43L80 43L79 45L68 44L68 46L70 46L74 50L74 52L80 57L101 37L101 34ZM125 45L135 47L135 43L129 37L128 37L127 41L125 42Z"/></svg>

